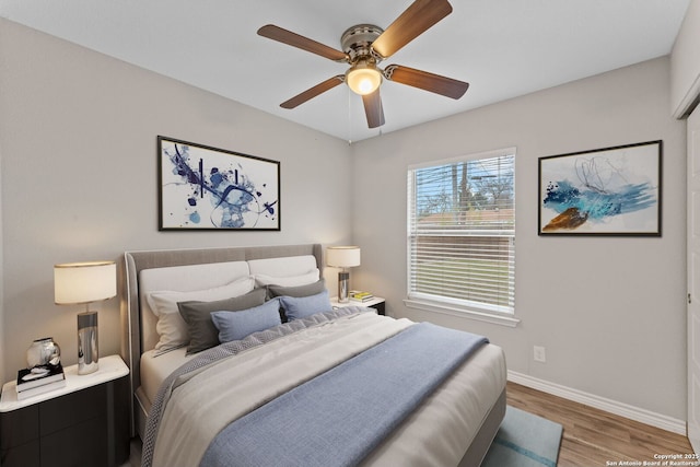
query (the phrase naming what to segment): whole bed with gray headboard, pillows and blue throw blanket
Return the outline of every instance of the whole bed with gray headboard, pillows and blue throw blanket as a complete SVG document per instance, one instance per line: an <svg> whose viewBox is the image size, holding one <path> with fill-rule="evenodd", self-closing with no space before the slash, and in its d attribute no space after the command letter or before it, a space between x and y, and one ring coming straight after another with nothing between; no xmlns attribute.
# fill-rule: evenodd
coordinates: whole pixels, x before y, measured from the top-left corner
<svg viewBox="0 0 700 467"><path fill-rule="evenodd" d="M334 311L323 265L319 244L125 253L144 467L271 465L278 448L279 465L481 463L505 413L502 350L362 306ZM372 371L382 377L368 381Z"/></svg>

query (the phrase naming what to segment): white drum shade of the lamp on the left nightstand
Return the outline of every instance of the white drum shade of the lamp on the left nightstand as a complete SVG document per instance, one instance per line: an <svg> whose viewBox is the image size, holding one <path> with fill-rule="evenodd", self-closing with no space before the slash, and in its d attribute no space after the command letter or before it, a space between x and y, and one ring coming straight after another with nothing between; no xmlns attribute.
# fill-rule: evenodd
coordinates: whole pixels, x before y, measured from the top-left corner
<svg viewBox="0 0 700 467"><path fill-rule="evenodd" d="M98 302L116 294L117 265L114 261L54 266L54 301L57 305Z"/></svg>

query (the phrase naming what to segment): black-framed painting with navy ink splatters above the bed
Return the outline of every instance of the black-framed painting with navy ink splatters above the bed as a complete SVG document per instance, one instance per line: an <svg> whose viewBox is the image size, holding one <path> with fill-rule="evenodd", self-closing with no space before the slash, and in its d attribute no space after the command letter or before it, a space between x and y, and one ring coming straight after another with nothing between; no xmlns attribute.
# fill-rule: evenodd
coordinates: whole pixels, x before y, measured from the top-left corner
<svg viewBox="0 0 700 467"><path fill-rule="evenodd" d="M161 230L280 230L280 164L159 137Z"/></svg>

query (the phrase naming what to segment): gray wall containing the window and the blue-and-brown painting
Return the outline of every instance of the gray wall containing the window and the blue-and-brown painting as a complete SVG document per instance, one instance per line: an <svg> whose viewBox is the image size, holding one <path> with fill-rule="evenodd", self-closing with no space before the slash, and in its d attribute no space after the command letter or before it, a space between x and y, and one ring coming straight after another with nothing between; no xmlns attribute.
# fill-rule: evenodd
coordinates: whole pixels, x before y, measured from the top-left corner
<svg viewBox="0 0 700 467"><path fill-rule="evenodd" d="M489 336L511 371L685 420L686 138L670 117L668 69L661 58L358 143L355 283L386 296L394 316ZM537 235L537 157L657 139L663 237ZM508 147L517 148L521 324L406 308L408 165ZM535 345L547 363L534 362Z"/></svg>

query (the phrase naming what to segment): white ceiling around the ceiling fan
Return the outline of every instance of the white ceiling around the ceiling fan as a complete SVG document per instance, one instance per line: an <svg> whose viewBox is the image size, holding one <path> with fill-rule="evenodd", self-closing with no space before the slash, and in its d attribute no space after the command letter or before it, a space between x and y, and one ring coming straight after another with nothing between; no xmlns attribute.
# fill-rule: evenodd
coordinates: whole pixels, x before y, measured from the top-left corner
<svg viewBox="0 0 700 467"><path fill-rule="evenodd" d="M337 86L279 104L347 65L256 34L276 24L340 49L412 0L2 0L0 16L348 141L359 141L667 55L690 0L451 0L454 11L384 61L470 83L459 101L384 82L386 125ZM16 44L16 47L21 47Z"/></svg>

